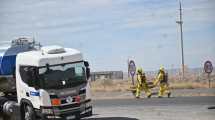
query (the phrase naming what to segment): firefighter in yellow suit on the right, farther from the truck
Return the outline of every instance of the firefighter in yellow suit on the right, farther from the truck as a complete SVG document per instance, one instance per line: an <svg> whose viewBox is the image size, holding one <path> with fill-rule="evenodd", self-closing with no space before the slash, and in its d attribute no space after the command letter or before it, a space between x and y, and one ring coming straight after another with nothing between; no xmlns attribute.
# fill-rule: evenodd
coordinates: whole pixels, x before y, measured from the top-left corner
<svg viewBox="0 0 215 120"><path fill-rule="evenodd" d="M157 86L158 84L160 85L159 92L158 92L159 98L163 97L164 94L167 94L168 97L170 97L171 95L167 77L168 77L168 74L165 73L164 67L161 66L159 69L159 73L153 82L154 86Z"/></svg>

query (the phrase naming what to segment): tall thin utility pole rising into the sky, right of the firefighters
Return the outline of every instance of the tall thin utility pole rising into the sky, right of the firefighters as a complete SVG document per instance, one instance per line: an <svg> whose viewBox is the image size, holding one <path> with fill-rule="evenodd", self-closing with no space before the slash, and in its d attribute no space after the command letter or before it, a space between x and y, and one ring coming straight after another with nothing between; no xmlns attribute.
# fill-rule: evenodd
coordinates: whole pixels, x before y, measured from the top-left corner
<svg viewBox="0 0 215 120"><path fill-rule="evenodd" d="M181 63L182 63L182 80L184 80L184 42L183 42L183 29L182 29L182 7L181 7L181 0L179 0L179 21L176 21L177 24L180 25L180 31L181 31Z"/></svg>

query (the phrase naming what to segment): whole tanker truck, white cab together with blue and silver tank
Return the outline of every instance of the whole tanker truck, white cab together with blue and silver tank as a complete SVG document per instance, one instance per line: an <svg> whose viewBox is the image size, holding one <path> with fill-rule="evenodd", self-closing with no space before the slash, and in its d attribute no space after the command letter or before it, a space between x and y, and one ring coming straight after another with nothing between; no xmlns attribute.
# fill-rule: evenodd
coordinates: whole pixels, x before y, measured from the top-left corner
<svg viewBox="0 0 215 120"><path fill-rule="evenodd" d="M79 120L92 115L89 63L76 49L29 38L0 51L0 117Z"/></svg>

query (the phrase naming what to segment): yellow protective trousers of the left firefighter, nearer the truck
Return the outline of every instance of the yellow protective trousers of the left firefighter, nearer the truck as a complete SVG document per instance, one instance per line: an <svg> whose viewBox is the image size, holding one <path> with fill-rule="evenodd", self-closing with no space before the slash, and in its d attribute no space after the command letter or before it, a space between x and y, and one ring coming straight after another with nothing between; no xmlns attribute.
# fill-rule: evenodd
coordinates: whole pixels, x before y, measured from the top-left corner
<svg viewBox="0 0 215 120"><path fill-rule="evenodd" d="M146 93L147 97L151 96L151 91L147 85L147 83L138 83L136 87L136 97L140 97L140 92L144 90Z"/></svg>

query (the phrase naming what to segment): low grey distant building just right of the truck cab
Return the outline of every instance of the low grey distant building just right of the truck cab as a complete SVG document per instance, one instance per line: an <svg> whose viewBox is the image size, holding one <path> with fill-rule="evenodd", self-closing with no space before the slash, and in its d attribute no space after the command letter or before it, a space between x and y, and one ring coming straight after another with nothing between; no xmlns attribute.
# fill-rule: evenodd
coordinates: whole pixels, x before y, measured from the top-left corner
<svg viewBox="0 0 215 120"><path fill-rule="evenodd" d="M101 72L92 72L91 80L105 80L105 79L123 79L123 71L101 71Z"/></svg>

